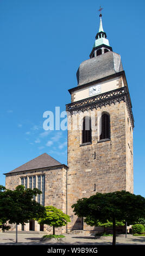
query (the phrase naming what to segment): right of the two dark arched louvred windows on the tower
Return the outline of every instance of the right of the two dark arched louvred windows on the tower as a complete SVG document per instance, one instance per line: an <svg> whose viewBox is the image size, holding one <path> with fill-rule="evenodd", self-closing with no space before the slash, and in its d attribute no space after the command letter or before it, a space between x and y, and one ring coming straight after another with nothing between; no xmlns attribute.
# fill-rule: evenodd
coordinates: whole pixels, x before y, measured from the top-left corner
<svg viewBox="0 0 145 256"><path fill-rule="evenodd" d="M110 139L110 115L108 113L102 114L101 124L102 132L100 139Z"/></svg>

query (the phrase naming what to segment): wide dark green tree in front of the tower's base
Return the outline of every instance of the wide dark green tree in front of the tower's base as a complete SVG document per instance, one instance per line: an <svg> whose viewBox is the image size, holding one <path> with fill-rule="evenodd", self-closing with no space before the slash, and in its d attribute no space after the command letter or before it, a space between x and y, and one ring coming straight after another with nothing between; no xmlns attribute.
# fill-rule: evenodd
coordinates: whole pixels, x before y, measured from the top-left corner
<svg viewBox="0 0 145 256"><path fill-rule="evenodd" d="M96 193L90 198L81 198L72 205L78 217L113 223L113 241L116 244L116 221L134 224L145 216L145 198L127 191Z"/></svg>

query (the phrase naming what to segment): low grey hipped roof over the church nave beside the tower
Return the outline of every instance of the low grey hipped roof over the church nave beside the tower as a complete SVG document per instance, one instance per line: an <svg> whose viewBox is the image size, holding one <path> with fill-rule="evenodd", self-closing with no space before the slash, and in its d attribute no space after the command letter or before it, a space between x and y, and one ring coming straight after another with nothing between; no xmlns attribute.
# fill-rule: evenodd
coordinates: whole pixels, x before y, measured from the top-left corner
<svg viewBox="0 0 145 256"><path fill-rule="evenodd" d="M16 172L22 172L25 170L40 169L40 168L59 166L59 165L61 165L60 162L56 161L53 157L44 153L40 156L37 156L35 159L22 164L22 166L17 167L14 170L11 170L9 173L16 173Z"/></svg>

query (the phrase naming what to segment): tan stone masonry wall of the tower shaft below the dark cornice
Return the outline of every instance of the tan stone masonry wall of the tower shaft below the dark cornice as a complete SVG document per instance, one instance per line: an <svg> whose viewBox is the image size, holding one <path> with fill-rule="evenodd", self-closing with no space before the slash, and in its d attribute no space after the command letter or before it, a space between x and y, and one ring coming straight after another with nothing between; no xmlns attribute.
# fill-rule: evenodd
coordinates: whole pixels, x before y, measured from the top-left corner
<svg viewBox="0 0 145 256"><path fill-rule="evenodd" d="M77 218L71 205L79 198L90 197L96 192L106 193L121 190L130 191L131 169L127 167L126 123L127 109L125 102L107 105L99 111L110 114L110 141L100 142L97 132L92 131L92 144L81 145L81 131L68 131L68 215L71 216L69 229L80 229L81 220ZM86 113L88 115L88 113ZM75 114L75 118L79 113ZM70 122L73 119L69 117ZM130 133L128 139L130 139ZM130 139L131 144L131 139ZM96 159L94 159L94 152ZM133 176L131 176L133 182ZM96 191L94 191L96 184ZM84 223L84 229L92 229Z"/></svg>

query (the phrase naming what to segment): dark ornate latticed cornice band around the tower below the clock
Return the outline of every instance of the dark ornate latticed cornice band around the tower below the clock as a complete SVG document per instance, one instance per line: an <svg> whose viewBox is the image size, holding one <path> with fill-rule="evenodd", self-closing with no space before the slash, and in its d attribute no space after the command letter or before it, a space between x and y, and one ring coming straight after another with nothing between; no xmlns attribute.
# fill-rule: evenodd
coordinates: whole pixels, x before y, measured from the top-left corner
<svg viewBox="0 0 145 256"><path fill-rule="evenodd" d="M75 101L66 105L66 111L73 114L73 112L84 112L92 109L102 108L103 106L116 104L124 101L127 104L127 109L130 117L131 126L134 127L134 117L131 109L130 96L127 87L111 90L110 92L102 93L87 99Z"/></svg>

